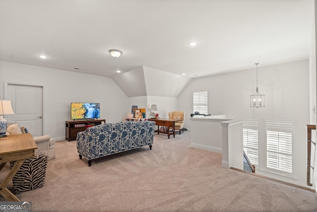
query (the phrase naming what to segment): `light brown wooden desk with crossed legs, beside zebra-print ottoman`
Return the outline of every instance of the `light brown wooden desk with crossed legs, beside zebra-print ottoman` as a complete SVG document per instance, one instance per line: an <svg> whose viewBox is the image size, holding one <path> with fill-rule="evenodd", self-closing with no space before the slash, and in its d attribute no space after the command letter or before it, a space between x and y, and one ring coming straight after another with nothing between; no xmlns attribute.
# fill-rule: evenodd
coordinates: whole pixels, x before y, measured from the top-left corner
<svg viewBox="0 0 317 212"><path fill-rule="evenodd" d="M34 149L36 148L38 147L33 140L32 135L29 133L11 135L7 138L0 139L0 171L6 162L16 160L13 168L0 183L0 195L7 201L20 201L6 188L6 186L19 170L24 160L34 156Z"/></svg>

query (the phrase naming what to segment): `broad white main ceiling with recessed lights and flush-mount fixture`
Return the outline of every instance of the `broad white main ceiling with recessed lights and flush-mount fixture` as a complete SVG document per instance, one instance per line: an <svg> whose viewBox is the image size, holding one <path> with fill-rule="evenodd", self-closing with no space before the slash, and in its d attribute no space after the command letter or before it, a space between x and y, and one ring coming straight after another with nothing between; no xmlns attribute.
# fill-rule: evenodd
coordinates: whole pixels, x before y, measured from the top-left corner
<svg viewBox="0 0 317 212"><path fill-rule="evenodd" d="M309 58L313 5L314 0L1 0L0 60L109 77L140 67L195 78L252 69L256 62L270 66ZM191 41L197 45L189 46ZM121 57L111 57L110 49L121 50Z"/></svg>

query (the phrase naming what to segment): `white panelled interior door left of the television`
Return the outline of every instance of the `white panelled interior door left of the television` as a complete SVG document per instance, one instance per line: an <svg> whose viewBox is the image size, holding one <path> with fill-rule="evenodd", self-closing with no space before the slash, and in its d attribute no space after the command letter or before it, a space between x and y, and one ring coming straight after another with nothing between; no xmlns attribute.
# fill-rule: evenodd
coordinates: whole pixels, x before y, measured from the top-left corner
<svg viewBox="0 0 317 212"><path fill-rule="evenodd" d="M14 112L7 116L8 123L25 127L34 137L42 136L43 87L7 84L7 99Z"/></svg>

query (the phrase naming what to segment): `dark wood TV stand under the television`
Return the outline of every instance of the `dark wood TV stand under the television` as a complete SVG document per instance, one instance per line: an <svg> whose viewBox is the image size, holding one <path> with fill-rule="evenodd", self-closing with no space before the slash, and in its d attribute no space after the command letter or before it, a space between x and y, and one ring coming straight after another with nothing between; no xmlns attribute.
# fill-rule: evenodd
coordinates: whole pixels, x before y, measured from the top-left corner
<svg viewBox="0 0 317 212"><path fill-rule="evenodd" d="M94 120L69 120L66 121L66 131L65 131L65 140L75 141L77 138L77 133L85 131L86 125L100 125L104 124L106 119L94 119Z"/></svg>

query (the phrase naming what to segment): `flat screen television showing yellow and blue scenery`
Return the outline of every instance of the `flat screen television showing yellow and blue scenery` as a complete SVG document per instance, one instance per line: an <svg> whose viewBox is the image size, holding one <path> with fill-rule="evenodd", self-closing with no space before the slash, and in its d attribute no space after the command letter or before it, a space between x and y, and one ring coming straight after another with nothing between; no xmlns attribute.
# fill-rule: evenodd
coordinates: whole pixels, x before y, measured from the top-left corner
<svg viewBox="0 0 317 212"><path fill-rule="evenodd" d="M70 103L71 119L99 119L100 103Z"/></svg>

